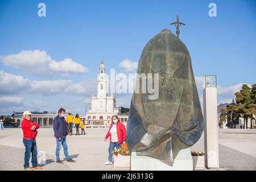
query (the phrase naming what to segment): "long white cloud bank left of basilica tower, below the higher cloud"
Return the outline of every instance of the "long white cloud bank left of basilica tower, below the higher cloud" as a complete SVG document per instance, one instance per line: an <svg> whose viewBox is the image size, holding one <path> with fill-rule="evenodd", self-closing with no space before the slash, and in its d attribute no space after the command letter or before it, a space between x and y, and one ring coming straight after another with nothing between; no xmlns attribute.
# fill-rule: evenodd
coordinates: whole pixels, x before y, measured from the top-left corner
<svg viewBox="0 0 256 182"><path fill-rule="evenodd" d="M71 80L28 80L22 76L0 71L0 94L75 94L91 95L96 90L97 80L88 79L74 84Z"/></svg>

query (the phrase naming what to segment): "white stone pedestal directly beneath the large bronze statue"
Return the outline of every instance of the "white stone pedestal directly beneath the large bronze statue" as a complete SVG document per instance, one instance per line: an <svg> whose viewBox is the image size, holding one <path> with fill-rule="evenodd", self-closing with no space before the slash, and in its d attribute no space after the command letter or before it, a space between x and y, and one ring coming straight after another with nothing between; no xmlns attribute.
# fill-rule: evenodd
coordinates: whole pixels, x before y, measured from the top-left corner
<svg viewBox="0 0 256 182"><path fill-rule="evenodd" d="M193 160L189 148L180 150L174 160L173 166L148 156L138 156L131 153L131 171L192 171Z"/></svg>

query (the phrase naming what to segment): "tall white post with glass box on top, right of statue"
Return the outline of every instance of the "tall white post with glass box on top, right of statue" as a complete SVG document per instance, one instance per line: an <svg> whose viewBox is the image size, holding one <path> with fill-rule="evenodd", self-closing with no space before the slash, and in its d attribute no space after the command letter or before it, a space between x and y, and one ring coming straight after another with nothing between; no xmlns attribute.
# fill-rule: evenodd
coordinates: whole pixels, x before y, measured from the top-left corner
<svg viewBox="0 0 256 182"><path fill-rule="evenodd" d="M205 167L219 168L216 76L205 76L203 95Z"/></svg>

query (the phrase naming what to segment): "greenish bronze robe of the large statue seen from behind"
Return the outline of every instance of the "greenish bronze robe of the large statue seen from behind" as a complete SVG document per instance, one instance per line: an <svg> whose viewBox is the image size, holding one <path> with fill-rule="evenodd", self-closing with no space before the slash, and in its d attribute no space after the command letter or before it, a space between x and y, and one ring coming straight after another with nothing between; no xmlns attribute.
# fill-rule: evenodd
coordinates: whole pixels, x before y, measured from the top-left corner
<svg viewBox="0 0 256 182"><path fill-rule="evenodd" d="M188 49L165 29L144 47L137 73L159 73L159 97L149 100L152 94L133 94L127 122L129 151L172 165L179 151L195 144L204 130ZM141 89L138 80L136 85Z"/></svg>

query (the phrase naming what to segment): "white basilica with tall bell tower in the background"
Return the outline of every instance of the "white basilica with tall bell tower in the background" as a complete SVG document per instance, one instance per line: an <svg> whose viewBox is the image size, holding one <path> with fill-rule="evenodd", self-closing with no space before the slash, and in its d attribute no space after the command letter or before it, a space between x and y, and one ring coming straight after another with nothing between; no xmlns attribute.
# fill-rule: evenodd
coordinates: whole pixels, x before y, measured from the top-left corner
<svg viewBox="0 0 256 182"><path fill-rule="evenodd" d="M86 112L87 120L110 120L112 115L119 114L119 107L115 103L113 94L106 93L106 76L104 61L101 61L100 73L98 75L97 96L92 94L91 106Z"/></svg>

